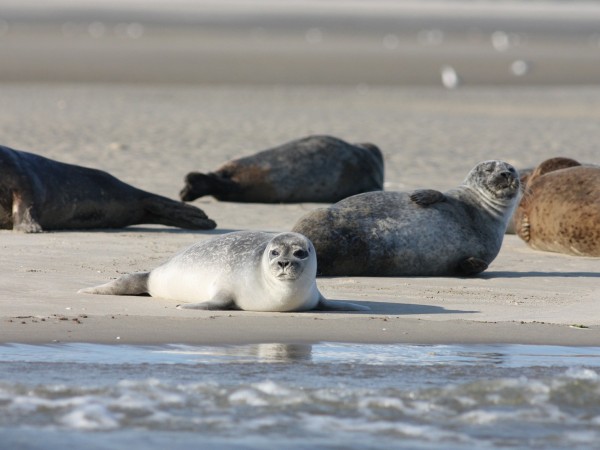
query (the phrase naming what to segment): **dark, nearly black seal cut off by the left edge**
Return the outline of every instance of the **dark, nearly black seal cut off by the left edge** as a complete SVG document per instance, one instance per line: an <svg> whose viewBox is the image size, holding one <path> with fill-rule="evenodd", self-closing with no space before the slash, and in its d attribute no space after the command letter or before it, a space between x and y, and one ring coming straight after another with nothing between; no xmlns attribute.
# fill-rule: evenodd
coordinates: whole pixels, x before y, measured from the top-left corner
<svg viewBox="0 0 600 450"><path fill-rule="evenodd" d="M191 205L130 186L101 170L0 146L0 229L121 228L153 223L215 228Z"/></svg>

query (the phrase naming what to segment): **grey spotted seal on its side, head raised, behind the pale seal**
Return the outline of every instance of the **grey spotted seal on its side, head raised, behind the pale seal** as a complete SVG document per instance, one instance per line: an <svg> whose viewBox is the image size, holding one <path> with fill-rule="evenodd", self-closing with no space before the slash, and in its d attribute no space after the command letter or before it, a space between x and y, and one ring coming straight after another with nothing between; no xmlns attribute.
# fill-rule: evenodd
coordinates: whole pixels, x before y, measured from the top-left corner
<svg viewBox="0 0 600 450"><path fill-rule="evenodd" d="M496 257L519 196L516 170L475 166L445 193L369 192L309 212L293 227L331 276L472 276Z"/></svg>

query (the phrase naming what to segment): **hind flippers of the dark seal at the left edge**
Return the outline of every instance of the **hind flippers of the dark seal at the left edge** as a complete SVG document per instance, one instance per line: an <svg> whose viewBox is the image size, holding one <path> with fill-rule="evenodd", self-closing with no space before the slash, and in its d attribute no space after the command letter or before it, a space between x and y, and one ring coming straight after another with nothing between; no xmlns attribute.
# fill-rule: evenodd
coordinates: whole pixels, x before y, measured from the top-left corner
<svg viewBox="0 0 600 450"><path fill-rule="evenodd" d="M149 197L144 204L147 222L186 228L190 230L212 230L217 226L214 220L200 208L177 202L166 197Z"/></svg>

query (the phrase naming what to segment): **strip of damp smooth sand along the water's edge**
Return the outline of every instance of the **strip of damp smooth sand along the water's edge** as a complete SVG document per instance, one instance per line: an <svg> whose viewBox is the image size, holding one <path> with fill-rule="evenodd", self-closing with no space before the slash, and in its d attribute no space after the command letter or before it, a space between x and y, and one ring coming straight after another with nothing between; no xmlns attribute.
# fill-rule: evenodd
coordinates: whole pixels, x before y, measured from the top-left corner
<svg viewBox="0 0 600 450"><path fill-rule="evenodd" d="M427 321L398 317L323 318L321 313L287 313L261 318L218 311L208 317L175 319L143 316L70 318L21 317L2 320L0 344L89 343L110 345L187 344L410 344L598 346L600 327L585 329L542 322ZM62 320L62 317L67 318ZM140 322L143 321L143 325ZM328 322L336 322L331 324ZM342 323L340 323L342 322ZM342 325L342 326L340 326ZM306 328L300 331L298 328ZM34 331L32 333L32 328ZM232 331L233 330L233 331ZM292 331L290 331L292 330ZM357 330L360 330L357 332Z"/></svg>

